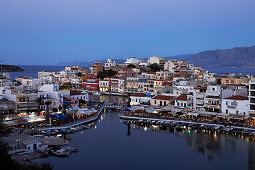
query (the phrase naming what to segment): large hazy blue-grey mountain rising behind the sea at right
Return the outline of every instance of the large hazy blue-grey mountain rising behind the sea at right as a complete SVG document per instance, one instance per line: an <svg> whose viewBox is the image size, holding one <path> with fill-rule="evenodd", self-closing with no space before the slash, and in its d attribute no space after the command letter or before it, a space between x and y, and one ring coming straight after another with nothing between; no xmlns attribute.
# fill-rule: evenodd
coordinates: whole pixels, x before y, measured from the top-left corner
<svg viewBox="0 0 255 170"><path fill-rule="evenodd" d="M255 68L255 46L203 51L193 55L189 63L202 67Z"/></svg>

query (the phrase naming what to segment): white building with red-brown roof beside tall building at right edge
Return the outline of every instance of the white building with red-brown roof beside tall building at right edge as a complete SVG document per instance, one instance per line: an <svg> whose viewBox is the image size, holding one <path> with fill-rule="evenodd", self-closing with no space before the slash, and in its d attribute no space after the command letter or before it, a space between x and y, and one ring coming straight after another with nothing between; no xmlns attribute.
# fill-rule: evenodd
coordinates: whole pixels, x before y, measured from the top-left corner
<svg viewBox="0 0 255 170"><path fill-rule="evenodd" d="M249 98L232 96L222 99L222 112L226 114L249 115Z"/></svg>

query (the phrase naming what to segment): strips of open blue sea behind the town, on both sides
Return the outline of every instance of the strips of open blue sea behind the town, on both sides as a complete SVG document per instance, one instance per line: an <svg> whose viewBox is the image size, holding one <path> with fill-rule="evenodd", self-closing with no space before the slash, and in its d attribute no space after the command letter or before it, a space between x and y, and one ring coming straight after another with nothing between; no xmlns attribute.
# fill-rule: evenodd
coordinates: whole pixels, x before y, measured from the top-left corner
<svg viewBox="0 0 255 170"><path fill-rule="evenodd" d="M65 69L65 66L54 66L54 65L19 65L23 68L23 72L11 72L11 79L14 80L19 76L28 76L32 78L38 77L38 72L40 71L61 71ZM225 67L205 67L205 70L217 73L217 75L225 73L235 73L235 74L248 74L255 75L255 68L225 68Z"/></svg>

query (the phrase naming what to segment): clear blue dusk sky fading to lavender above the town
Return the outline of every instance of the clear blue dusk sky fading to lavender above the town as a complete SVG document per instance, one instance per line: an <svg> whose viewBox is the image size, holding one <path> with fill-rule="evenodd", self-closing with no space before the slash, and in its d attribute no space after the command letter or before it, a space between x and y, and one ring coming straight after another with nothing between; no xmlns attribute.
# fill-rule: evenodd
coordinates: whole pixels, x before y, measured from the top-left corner
<svg viewBox="0 0 255 170"><path fill-rule="evenodd" d="M255 45L254 0L0 0L0 59L55 65Z"/></svg>

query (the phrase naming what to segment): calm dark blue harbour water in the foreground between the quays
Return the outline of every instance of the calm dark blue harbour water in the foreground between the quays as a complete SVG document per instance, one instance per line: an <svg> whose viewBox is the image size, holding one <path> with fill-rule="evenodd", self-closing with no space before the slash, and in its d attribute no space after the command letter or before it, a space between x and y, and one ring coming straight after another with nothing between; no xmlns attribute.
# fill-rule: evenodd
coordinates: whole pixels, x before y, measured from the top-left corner
<svg viewBox="0 0 255 170"><path fill-rule="evenodd" d="M195 131L128 126L118 113L71 134L78 153L50 157L54 169L254 169L255 147L241 138ZM96 128L95 128L96 127Z"/></svg>

